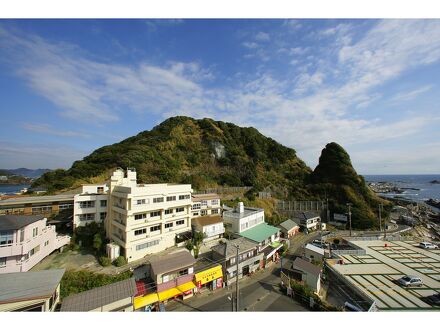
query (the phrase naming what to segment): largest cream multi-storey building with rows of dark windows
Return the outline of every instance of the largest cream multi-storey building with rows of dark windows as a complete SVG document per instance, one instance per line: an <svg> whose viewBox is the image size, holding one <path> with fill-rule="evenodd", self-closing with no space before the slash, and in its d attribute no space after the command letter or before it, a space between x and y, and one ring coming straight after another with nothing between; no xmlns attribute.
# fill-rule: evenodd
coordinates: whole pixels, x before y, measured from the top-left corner
<svg viewBox="0 0 440 330"><path fill-rule="evenodd" d="M131 262L176 244L191 231L191 185L137 184L136 171L116 170L110 179L106 235Z"/></svg>

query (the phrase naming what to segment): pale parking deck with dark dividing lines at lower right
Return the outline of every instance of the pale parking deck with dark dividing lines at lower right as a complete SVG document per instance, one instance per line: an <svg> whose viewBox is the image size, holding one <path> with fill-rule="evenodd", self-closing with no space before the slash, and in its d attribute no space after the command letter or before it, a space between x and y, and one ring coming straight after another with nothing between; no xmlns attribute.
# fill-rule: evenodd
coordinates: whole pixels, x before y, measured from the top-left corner
<svg viewBox="0 0 440 330"><path fill-rule="evenodd" d="M425 250L414 241L352 241L366 255L342 255L332 267L376 300L380 310L435 310L423 297L440 292L440 250ZM404 275L422 279L421 287L404 288Z"/></svg>

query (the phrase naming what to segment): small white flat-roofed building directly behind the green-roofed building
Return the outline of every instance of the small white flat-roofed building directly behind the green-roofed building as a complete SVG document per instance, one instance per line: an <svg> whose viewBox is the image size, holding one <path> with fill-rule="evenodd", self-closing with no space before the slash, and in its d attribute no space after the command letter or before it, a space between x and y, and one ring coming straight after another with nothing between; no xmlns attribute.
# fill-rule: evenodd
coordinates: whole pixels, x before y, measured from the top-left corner
<svg viewBox="0 0 440 330"><path fill-rule="evenodd" d="M223 221L230 231L240 234L264 223L264 209L245 207L243 202L232 211L223 212Z"/></svg>

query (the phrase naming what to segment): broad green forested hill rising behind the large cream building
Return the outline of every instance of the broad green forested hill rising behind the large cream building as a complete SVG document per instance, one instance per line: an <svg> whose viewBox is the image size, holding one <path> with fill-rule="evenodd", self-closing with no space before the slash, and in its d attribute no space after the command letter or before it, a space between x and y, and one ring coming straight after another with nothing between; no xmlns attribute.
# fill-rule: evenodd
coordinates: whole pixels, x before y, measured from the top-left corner
<svg viewBox="0 0 440 330"><path fill-rule="evenodd" d="M34 186L50 192L104 181L117 167L135 167L140 182L191 183L195 189L221 186L271 187L291 198L309 196L304 180L311 169L287 148L252 127L212 119L172 117L150 131L95 150L68 170L55 170Z"/></svg>

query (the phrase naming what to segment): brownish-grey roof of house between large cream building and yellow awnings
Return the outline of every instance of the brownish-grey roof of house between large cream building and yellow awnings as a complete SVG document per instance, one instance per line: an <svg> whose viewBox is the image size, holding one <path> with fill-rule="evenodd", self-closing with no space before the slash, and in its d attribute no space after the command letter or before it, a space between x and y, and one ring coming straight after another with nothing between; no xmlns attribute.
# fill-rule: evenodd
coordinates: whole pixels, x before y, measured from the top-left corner
<svg viewBox="0 0 440 330"><path fill-rule="evenodd" d="M166 256L154 256L150 260L150 265L152 273L159 275L191 267L195 262L196 259L194 259L191 253L183 250Z"/></svg>

